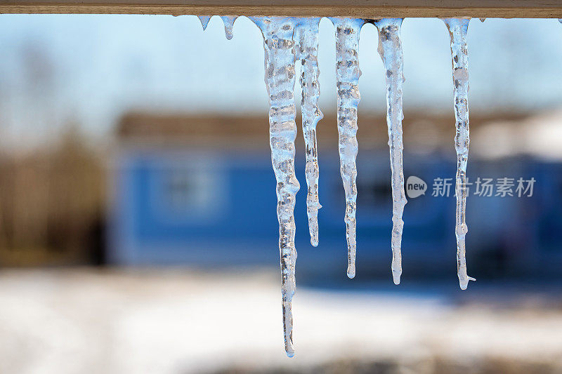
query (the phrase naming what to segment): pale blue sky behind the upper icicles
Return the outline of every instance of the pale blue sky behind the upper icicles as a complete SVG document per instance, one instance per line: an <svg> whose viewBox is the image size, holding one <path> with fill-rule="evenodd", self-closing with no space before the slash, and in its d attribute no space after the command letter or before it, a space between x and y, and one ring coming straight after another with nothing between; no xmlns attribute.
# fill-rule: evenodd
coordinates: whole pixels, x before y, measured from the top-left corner
<svg viewBox="0 0 562 374"><path fill-rule="evenodd" d="M2 15L0 135L53 131L68 118L105 134L134 109L266 112L263 46L247 18L227 41L220 18L202 31L195 16ZM335 111L334 29L320 23L322 111ZM405 110L449 111L449 36L437 19L403 23ZM362 29L360 110L384 109L384 74L374 26ZM48 83L25 69L29 51L48 62ZM27 54L26 54L27 53ZM471 110L540 109L562 103L562 25L557 20L472 20ZM37 57L39 56L39 57Z"/></svg>

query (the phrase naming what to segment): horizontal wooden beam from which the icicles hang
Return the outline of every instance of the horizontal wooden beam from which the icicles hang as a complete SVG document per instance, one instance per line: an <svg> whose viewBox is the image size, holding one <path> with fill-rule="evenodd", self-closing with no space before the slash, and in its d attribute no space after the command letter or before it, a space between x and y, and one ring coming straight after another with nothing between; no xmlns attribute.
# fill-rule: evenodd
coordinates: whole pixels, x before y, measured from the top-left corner
<svg viewBox="0 0 562 374"><path fill-rule="evenodd" d="M0 0L0 13L562 18L562 0Z"/></svg>

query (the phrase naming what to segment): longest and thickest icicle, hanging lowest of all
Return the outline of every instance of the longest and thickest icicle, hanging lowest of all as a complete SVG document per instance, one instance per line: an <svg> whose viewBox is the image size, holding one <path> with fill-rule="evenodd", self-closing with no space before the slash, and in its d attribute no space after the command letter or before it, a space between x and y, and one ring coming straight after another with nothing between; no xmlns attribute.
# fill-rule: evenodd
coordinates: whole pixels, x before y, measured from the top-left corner
<svg viewBox="0 0 562 374"><path fill-rule="evenodd" d="M277 220L282 272L283 328L285 352L294 355L291 300L295 291L296 248L294 246L294 204L299 181L294 173L296 138L294 84L295 48L293 18L251 18L263 34L266 86L269 95L271 161L277 180Z"/></svg>

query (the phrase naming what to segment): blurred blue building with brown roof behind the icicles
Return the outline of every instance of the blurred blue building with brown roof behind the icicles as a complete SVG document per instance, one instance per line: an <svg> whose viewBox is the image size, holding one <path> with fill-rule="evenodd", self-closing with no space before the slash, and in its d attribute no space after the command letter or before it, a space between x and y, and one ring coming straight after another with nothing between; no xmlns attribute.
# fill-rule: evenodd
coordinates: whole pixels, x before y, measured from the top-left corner
<svg viewBox="0 0 562 374"><path fill-rule="evenodd" d="M386 124L360 119L358 276L390 276L391 190ZM320 245L308 237L302 140L295 209L299 274L346 268L344 192L335 121L319 124ZM452 122L450 126L452 126ZM322 128L320 128L322 126ZM323 131L324 126L332 130ZM376 139L376 141L375 141ZM129 114L119 125L112 180L110 258L124 265L278 266L275 177L265 117ZM451 144L452 148L452 144ZM455 196L431 196L436 178L454 178L455 154L405 153L404 174L428 184L404 213L405 276L455 274ZM562 265L562 170L530 159L471 159L469 178L534 177L531 197L469 196L467 259L473 276L540 274Z"/></svg>

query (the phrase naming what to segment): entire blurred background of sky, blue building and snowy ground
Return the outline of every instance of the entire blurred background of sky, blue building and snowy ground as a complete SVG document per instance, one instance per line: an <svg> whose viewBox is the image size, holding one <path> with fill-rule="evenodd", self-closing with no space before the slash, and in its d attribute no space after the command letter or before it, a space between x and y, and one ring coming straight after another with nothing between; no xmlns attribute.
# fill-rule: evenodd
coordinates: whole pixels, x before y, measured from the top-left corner
<svg viewBox="0 0 562 374"><path fill-rule="evenodd" d="M358 275L346 278L334 28L320 22L320 246L296 172L297 353L283 352L263 39L247 18L2 15L0 373L562 373L562 26L472 20L459 290L450 41L403 23L404 213L391 191L377 31L361 32ZM296 96L300 97L296 87ZM515 182L516 183L516 182Z"/></svg>

